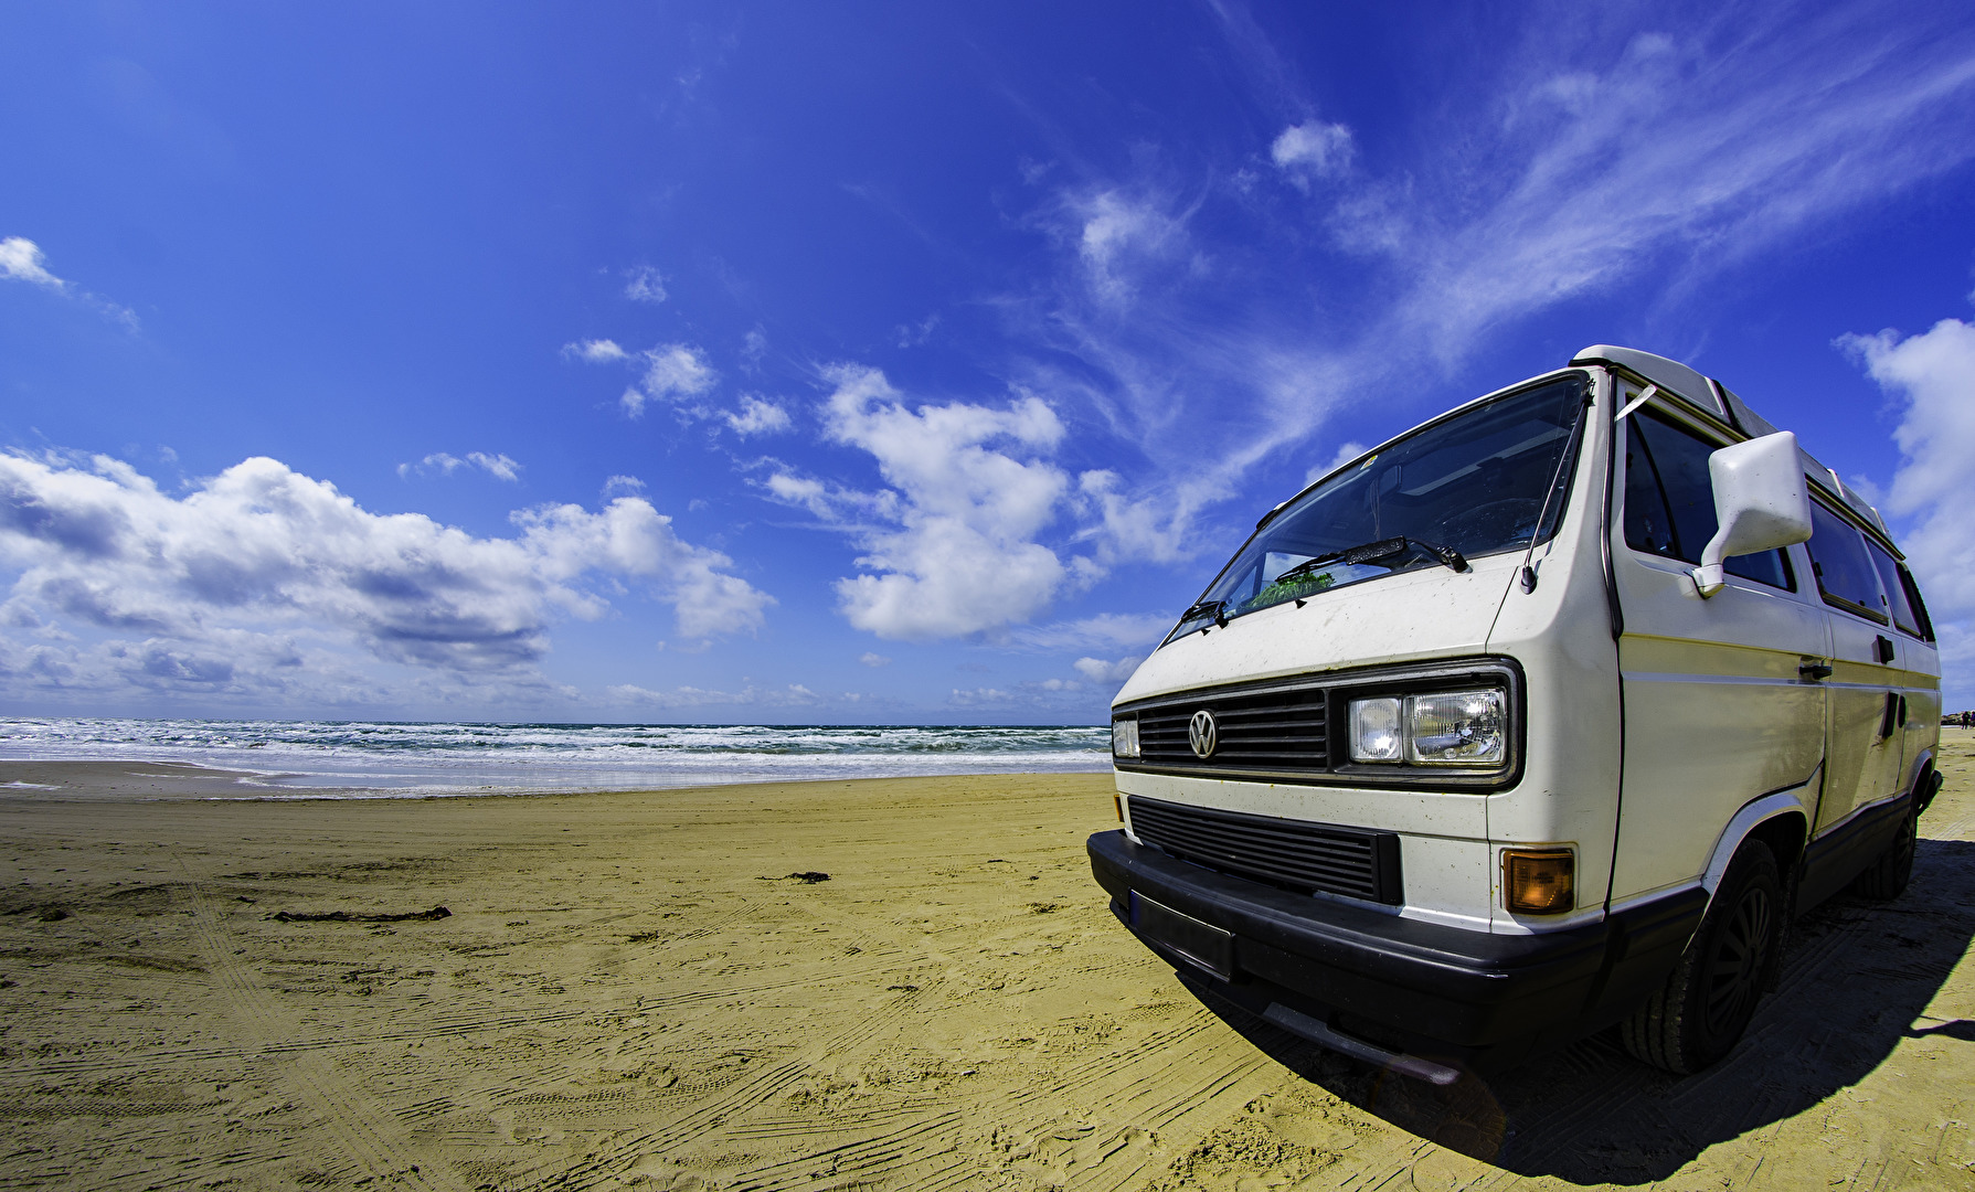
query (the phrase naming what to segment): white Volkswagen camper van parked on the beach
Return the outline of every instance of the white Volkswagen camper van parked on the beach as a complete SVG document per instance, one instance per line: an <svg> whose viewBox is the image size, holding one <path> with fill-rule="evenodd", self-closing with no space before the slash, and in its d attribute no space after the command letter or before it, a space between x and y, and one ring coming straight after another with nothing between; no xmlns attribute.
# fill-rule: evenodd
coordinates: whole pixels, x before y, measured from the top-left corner
<svg viewBox="0 0 1975 1192"><path fill-rule="evenodd" d="M1894 898L1939 653L1880 515L1629 347L1274 507L1112 705L1112 912L1280 1028L1450 1083L1606 1026L1697 1072L1791 916Z"/></svg>

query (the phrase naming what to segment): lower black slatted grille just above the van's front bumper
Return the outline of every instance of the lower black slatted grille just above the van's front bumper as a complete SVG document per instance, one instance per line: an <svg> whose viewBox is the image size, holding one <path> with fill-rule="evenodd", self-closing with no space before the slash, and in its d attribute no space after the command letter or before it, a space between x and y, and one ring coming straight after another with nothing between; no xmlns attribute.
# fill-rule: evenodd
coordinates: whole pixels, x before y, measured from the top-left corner
<svg viewBox="0 0 1975 1192"><path fill-rule="evenodd" d="M1128 795L1132 835L1181 860L1300 894L1398 906L1398 837Z"/></svg>

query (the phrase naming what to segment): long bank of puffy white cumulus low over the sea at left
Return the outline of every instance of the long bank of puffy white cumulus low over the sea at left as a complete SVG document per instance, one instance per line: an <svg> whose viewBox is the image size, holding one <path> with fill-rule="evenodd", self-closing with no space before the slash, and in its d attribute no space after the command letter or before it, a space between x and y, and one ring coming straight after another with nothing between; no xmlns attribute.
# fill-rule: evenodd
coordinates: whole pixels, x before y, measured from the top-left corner
<svg viewBox="0 0 1975 1192"><path fill-rule="evenodd" d="M514 537L482 539L369 513L269 458L174 497L107 456L0 456L10 622L89 637L55 657L0 630L0 687L316 693L369 661L539 679L553 622L602 616L626 588L670 604L693 639L750 632L772 604L640 497L512 521Z"/></svg>

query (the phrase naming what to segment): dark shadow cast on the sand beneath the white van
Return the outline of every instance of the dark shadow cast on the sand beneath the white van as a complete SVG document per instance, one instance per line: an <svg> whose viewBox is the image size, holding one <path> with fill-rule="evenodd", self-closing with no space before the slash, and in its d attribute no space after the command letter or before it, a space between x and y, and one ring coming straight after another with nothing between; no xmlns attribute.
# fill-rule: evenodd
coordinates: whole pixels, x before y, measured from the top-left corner
<svg viewBox="0 0 1975 1192"><path fill-rule="evenodd" d="M1714 1068L1679 1078L1606 1030L1450 1087L1388 1076L1224 1003L1195 997L1278 1064L1452 1151L1574 1184L1665 1180L1714 1143L1811 1109L1858 1083L1902 1038L1975 1048L1975 1020L1916 1022L1975 937L1975 843L1922 839L1892 902L1839 894L1797 920L1778 993Z"/></svg>

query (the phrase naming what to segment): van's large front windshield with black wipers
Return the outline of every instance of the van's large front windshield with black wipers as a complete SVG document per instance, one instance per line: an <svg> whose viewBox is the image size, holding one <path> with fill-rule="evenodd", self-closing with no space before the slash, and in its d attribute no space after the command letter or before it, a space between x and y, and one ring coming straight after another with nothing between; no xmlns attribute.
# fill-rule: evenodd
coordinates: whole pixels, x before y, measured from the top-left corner
<svg viewBox="0 0 1975 1192"><path fill-rule="evenodd" d="M1256 531L1167 641L1286 600L1422 566L1463 570L1467 557L1546 539L1570 487L1572 468L1558 464L1586 385L1578 373L1511 393L1359 458Z"/></svg>

